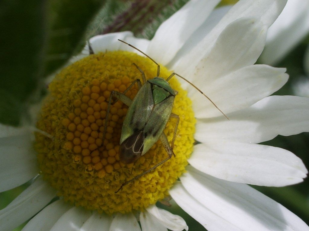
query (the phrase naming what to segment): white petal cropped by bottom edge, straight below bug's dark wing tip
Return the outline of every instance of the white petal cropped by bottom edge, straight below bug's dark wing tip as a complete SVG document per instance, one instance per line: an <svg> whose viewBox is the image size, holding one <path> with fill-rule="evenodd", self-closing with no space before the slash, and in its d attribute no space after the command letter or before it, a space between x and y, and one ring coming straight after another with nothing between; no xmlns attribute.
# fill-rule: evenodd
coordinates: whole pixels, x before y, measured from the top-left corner
<svg viewBox="0 0 309 231"><path fill-rule="evenodd" d="M117 213L112 221L109 231L141 231L133 213L121 214Z"/></svg>

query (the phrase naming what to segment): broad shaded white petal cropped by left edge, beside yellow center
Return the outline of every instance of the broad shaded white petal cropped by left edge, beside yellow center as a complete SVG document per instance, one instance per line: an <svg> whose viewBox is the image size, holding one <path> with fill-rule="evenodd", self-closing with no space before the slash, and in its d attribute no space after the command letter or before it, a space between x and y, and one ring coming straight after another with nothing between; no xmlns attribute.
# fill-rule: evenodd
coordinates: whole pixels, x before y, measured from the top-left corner
<svg viewBox="0 0 309 231"><path fill-rule="evenodd" d="M0 138L0 192L15 188L39 173L30 132L25 131Z"/></svg>

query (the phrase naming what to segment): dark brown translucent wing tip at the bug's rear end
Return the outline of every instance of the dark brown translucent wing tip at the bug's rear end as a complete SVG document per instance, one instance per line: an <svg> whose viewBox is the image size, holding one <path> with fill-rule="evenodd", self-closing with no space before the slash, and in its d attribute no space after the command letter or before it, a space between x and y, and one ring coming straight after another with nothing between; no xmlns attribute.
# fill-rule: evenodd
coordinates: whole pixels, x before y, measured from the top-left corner
<svg viewBox="0 0 309 231"><path fill-rule="evenodd" d="M125 139L119 147L119 159L124 164L135 162L144 149L144 134L142 131L136 132Z"/></svg>

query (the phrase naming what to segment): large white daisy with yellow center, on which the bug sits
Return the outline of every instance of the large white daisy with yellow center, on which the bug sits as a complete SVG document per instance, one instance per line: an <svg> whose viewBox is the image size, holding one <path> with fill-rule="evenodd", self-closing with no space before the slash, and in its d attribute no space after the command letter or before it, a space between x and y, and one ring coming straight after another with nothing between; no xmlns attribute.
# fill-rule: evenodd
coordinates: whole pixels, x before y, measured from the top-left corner
<svg viewBox="0 0 309 231"><path fill-rule="evenodd" d="M27 128L1 127L1 191L33 178L0 211L1 230L29 219L24 231L188 230L180 216L156 207L169 195L210 231L309 230L248 185L279 187L307 176L293 153L258 144L309 130L308 98L269 96L286 83L286 69L254 65L286 1L245 0L215 9L218 2L189 1L150 41L130 32L93 37L91 49L87 46L49 84L34 144ZM160 77L175 71L198 86L229 120L174 76L169 83L178 94L172 113L180 118L175 156L115 193L167 157L158 141L133 164L119 161L128 107L115 102L106 121L111 91L124 92L141 72L152 79L157 65L118 39L159 62ZM134 84L125 94L134 99L137 92ZM176 121L170 118L164 129L169 142Z"/></svg>

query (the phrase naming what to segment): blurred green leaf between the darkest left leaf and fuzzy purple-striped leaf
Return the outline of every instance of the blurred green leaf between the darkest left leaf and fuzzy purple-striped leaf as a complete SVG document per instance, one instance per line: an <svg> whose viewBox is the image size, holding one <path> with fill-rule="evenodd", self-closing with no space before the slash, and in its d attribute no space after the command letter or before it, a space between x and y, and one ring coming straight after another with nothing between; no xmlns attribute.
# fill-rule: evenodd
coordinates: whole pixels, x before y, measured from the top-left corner
<svg viewBox="0 0 309 231"><path fill-rule="evenodd" d="M53 0L49 4L49 33L45 75L81 51L85 30L104 0Z"/></svg>

